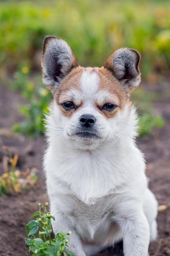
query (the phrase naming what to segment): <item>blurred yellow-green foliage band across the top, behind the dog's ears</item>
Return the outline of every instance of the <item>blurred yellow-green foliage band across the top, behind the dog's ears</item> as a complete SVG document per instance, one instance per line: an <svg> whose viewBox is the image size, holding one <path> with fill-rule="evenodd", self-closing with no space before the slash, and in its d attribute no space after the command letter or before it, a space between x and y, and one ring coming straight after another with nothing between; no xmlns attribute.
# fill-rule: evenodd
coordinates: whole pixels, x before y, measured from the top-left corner
<svg viewBox="0 0 170 256"><path fill-rule="evenodd" d="M101 66L115 49L132 47L142 55L145 77L170 69L170 1L0 2L0 65L35 69L49 34L65 39L81 65Z"/></svg>

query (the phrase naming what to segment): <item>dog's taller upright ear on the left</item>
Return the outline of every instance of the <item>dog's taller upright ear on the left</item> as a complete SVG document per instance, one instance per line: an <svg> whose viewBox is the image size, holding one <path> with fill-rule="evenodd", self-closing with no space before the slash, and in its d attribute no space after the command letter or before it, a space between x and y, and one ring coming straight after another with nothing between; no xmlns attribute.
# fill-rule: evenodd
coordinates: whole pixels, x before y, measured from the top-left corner
<svg viewBox="0 0 170 256"><path fill-rule="evenodd" d="M71 47L62 39L46 36L42 55L43 83L57 89L64 77L77 67L78 61Z"/></svg>

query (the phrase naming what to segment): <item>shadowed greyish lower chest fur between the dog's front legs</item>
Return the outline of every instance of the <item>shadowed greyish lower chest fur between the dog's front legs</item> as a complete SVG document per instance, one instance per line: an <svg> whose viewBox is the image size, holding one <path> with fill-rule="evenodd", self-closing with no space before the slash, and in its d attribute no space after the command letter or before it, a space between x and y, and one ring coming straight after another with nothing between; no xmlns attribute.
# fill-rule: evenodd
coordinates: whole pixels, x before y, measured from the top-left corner
<svg viewBox="0 0 170 256"><path fill-rule="evenodd" d="M75 229L84 241L89 243L96 240L96 243L102 244L106 237L108 239L110 232L117 229L111 221L111 217L114 216L114 201L115 195L98 198L94 204L85 204L76 200L71 214Z"/></svg>

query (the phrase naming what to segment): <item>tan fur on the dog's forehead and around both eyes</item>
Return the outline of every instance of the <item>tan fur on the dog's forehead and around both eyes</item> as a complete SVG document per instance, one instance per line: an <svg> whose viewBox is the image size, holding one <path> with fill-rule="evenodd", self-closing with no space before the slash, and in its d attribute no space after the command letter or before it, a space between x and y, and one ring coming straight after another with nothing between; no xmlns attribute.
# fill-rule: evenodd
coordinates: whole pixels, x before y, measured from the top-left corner
<svg viewBox="0 0 170 256"><path fill-rule="evenodd" d="M71 117L73 113L79 110L83 105L83 95L81 89L81 77L83 71L86 70L89 74L96 72L99 77L99 88L97 90L96 98L94 101L94 107L99 111L105 118L113 118L118 110L123 110L126 101L128 100L128 94L124 88L115 79L113 74L105 67L76 67L66 76L62 81L59 88L54 93L54 99L60 107L62 114L66 117ZM75 91L75 95L73 92ZM76 94L80 93L82 100L77 103ZM100 95L100 97L99 97ZM102 97L101 97L102 95ZM104 96L103 96L104 95ZM72 101L75 105L74 109L65 110L62 106L64 101ZM117 108L111 111L102 109L106 103L114 103Z"/></svg>

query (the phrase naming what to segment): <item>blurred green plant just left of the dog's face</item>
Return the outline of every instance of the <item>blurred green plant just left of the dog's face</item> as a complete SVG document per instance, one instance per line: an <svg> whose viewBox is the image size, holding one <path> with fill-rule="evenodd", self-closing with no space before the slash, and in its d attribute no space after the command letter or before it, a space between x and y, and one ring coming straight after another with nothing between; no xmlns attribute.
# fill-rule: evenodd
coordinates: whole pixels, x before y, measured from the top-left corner
<svg viewBox="0 0 170 256"><path fill-rule="evenodd" d="M24 68L26 69L26 67ZM25 78L24 82L22 82L23 76ZM44 128L44 113L49 112L48 105L51 93L44 87L39 76L30 79L28 73L23 74L23 67L13 81L13 87L15 84L18 86L22 85L20 91L22 91L22 96L26 99L27 103L20 105L19 109L24 116L24 121L14 124L13 131L37 137L42 134Z"/></svg>

